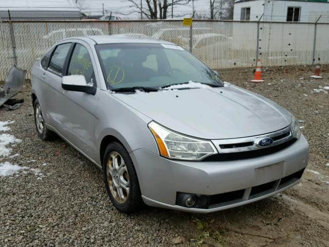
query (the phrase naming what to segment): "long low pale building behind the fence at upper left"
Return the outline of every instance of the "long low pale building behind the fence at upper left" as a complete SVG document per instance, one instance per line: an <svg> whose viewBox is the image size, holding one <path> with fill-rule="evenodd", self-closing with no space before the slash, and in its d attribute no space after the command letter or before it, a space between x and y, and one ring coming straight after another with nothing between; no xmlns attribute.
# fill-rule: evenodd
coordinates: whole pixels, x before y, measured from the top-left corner
<svg viewBox="0 0 329 247"><path fill-rule="evenodd" d="M8 20L80 19L80 10L72 0L0 0L0 17Z"/></svg>

